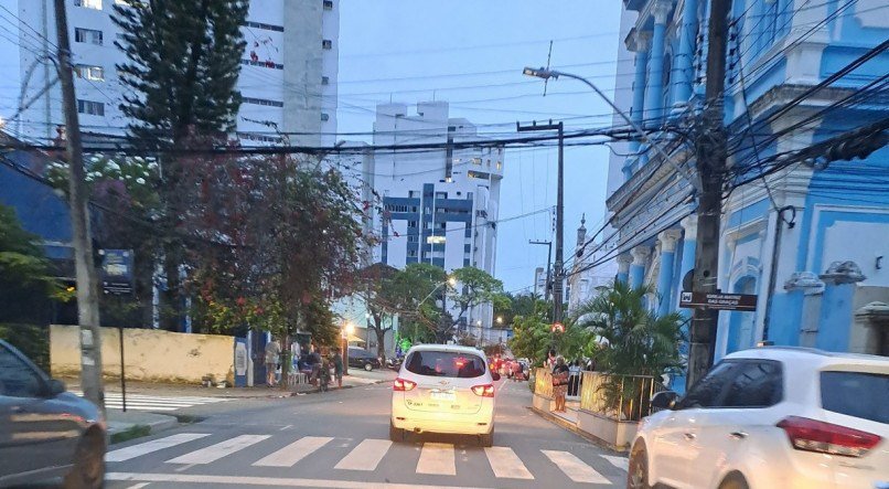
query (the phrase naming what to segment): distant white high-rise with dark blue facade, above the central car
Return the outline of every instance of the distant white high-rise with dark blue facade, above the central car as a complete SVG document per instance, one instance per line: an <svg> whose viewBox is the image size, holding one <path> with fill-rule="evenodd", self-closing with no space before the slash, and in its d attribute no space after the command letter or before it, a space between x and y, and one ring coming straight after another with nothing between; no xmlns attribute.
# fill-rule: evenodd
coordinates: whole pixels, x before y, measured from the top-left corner
<svg viewBox="0 0 889 489"><path fill-rule="evenodd" d="M504 151L496 145L460 147L479 139L472 123L449 117L447 102L417 104L416 114L405 104L377 106L374 146L421 148L374 151L366 174L384 209L374 220L382 238L374 262L494 274ZM493 310L479 307L463 319L469 332L488 337Z"/></svg>

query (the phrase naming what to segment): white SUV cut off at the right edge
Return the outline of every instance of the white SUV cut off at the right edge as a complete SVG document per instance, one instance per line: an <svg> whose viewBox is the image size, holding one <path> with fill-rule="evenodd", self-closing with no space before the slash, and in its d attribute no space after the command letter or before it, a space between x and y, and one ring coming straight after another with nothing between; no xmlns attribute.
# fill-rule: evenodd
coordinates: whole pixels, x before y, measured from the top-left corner
<svg viewBox="0 0 889 489"><path fill-rule="evenodd" d="M889 487L889 359L765 347L727 355L639 426L626 486Z"/></svg>

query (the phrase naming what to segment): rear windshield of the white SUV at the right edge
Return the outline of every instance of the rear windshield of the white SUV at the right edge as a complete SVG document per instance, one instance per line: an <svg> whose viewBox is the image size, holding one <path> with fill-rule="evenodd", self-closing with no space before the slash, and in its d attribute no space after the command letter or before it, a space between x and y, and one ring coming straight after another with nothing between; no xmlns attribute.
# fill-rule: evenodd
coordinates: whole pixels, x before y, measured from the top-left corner
<svg viewBox="0 0 889 489"><path fill-rule="evenodd" d="M889 424L889 375L822 372L821 404L834 413Z"/></svg>

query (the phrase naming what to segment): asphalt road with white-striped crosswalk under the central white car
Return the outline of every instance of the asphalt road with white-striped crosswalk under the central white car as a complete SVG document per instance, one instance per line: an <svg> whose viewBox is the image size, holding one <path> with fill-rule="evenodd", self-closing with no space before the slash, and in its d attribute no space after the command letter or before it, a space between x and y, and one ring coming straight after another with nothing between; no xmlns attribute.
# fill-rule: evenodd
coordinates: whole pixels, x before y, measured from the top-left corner
<svg viewBox="0 0 889 489"><path fill-rule="evenodd" d="M109 488L610 487L625 458L542 419L526 383L499 385L494 448L388 440L392 384L214 405L196 424L114 445Z"/></svg>

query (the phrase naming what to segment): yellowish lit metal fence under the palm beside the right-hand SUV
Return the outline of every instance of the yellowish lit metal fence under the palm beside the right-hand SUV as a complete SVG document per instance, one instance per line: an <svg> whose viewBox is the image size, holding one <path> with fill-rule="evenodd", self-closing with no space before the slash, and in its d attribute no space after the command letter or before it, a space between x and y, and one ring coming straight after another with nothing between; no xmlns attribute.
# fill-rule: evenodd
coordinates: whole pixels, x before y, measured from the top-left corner
<svg viewBox="0 0 889 489"><path fill-rule="evenodd" d="M649 375L599 372L583 372L582 375L580 408L618 421L639 421L647 416L652 395L665 390L657 379Z"/></svg>

